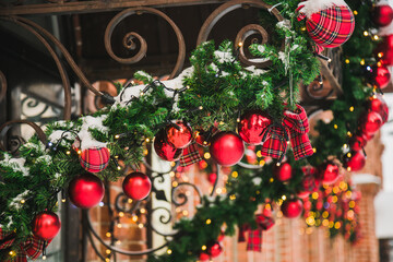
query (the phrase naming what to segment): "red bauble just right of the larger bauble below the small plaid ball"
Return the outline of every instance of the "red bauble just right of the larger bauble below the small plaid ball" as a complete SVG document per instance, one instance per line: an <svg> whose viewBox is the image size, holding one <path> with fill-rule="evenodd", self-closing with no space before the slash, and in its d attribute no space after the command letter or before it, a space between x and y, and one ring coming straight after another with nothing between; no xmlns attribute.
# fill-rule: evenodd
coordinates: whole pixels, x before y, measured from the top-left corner
<svg viewBox="0 0 393 262"><path fill-rule="evenodd" d="M124 194L130 199L143 200L150 194L152 182L145 174L136 171L124 178L122 188Z"/></svg>

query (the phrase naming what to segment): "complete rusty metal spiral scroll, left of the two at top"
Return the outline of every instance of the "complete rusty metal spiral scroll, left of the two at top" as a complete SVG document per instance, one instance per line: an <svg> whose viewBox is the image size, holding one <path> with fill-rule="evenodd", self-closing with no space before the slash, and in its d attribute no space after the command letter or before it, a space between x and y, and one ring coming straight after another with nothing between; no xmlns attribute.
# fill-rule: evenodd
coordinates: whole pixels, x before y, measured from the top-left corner
<svg viewBox="0 0 393 262"><path fill-rule="evenodd" d="M111 47L111 43L110 43L110 38L111 35L114 33L115 27L126 17L133 15L133 14L142 14L142 13L151 13L151 14L155 14L158 15L160 17L163 17L165 21L168 22L168 24L172 27L172 29L175 31L175 34L177 36L178 39L178 45L179 45L179 55L176 61L176 66L174 71L170 73L169 79L175 78L177 74L180 73L180 70L182 69L182 66L184 63L184 58L186 58L186 44L184 44L184 38L179 29L179 27L175 24L175 22L169 19L168 15L166 15L165 13L153 9L153 8L132 8L132 9L127 9L120 13L118 13L108 24L106 31L105 31L105 48L108 52L108 55L115 59L118 62L121 63L135 63L139 62L145 55L147 51L147 44L146 40L139 34L136 34L135 32L130 32L128 34L126 34L126 36L123 37L123 46L128 49L133 49L135 48L135 41L134 39L136 38L140 44L141 44L141 48L138 51L138 53L131 58L120 58L118 56L115 55L112 47Z"/></svg>

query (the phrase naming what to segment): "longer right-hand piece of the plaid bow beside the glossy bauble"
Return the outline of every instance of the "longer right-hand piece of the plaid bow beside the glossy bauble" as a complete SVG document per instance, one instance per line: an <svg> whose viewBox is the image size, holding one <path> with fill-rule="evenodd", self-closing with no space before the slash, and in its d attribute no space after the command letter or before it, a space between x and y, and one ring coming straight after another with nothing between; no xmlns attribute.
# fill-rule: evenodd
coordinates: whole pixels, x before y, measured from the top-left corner
<svg viewBox="0 0 393 262"><path fill-rule="evenodd" d="M290 144L293 146L295 160L313 154L312 146L307 133L310 130L305 108L299 105L296 112L286 110L283 122L289 129Z"/></svg>

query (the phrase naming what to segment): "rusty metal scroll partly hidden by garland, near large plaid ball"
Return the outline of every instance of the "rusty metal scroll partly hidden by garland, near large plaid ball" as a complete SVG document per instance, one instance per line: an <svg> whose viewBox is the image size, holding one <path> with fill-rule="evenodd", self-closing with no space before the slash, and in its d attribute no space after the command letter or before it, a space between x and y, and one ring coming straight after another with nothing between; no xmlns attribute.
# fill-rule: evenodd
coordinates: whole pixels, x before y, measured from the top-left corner
<svg viewBox="0 0 393 262"><path fill-rule="evenodd" d="M198 35L196 45L200 45L203 41L207 40L209 34L211 33L212 28L224 15L226 15L227 13L229 13L236 9L242 8L245 5L260 8L260 9L266 9L269 12L271 12L277 19L277 21L284 20L284 17L281 15L281 13L278 12L278 10L276 8L273 8L272 5L266 4L262 1L233 0L233 1L226 2L226 3L222 4L221 7L218 7L206 19L206 21L202 25L201 31ZM252 34L260 34L262 37L262 44L265 44L269 39L267 32L261 25L258 25L258 24L246 25L245 27L242 27L239 31L239 33L236 36L236 40L235 40L235 45L237 47L239 47L239 52L240 52L239 59L242 63L245 63L247 66L255 66L258 68L266 68L271 64L271 62L269 60L262 61L262 62L250 61L245 55L243 46L239 45L239 43L243 43L245 39L248 38Z"/></svg>

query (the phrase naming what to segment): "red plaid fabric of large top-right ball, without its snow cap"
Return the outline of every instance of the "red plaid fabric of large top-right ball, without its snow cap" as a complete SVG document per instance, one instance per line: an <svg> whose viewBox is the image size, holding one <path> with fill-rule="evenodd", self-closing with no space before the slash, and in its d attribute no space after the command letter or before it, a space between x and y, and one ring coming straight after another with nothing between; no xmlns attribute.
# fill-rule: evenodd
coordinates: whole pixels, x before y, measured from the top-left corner
<svg viewBox="0 0 393 262"><path fill-rule="evenodd" d="M298 20L306 19L299 5ZM338 47L349 39L355 28L355 17L347 5L333 5L313 13L306 22L310 37L321 47Z"/></svg>

